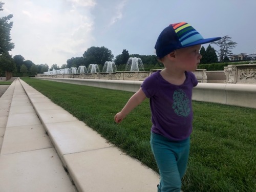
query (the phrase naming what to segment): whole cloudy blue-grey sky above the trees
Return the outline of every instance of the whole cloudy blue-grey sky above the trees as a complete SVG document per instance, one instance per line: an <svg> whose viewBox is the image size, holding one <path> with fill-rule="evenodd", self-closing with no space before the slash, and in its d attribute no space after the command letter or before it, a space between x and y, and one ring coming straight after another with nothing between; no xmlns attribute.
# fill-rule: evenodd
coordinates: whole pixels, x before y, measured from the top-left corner
<svg viewBox="0 0 256 192"><path fill-rule="evenodd" d="M159 33L187 22L204 38L224 35L237 42L233 54L256 49L255 0L0 0L11 19L12 56L59 67L71 57L104 46L114 57L153 55ZM208 45L205 45L205 49ZM219 50L218 47L214 47Z"/></svg>

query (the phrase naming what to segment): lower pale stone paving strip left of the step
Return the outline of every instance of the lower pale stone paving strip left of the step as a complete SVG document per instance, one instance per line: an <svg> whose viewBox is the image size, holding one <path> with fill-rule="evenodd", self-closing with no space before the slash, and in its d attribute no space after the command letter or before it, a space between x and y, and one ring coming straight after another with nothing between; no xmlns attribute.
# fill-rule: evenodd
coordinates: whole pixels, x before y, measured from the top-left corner
<svg viewBox="0 0 256 192"><path fill-rule="evenodd" d="M11 84L0 105L1 111L8 110L1 113L7 118L0 153L0 191L37 191L41 187L77 191L20 81Z"/></svg>

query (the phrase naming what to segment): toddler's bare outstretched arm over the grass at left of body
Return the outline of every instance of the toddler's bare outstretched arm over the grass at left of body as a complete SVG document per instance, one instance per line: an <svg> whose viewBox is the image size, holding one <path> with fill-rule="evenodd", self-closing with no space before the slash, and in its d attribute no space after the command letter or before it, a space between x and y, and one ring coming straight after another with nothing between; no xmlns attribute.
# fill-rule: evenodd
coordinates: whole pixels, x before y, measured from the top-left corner
<svg viewBox="0 0 256 192"><path fill-rule="evenodd" d="M128 115L136 106L138 106L142 101L144 101L146 95L140 88L125 104L122 111L115 115L115 121L120 123L126 115Z"/></svg>

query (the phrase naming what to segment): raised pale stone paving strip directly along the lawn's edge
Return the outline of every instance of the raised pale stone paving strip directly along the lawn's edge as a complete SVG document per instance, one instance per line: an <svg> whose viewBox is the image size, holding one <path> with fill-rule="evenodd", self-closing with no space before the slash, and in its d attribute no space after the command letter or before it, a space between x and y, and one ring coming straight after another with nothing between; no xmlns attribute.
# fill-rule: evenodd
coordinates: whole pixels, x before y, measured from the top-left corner
<svg viewBox="0 0 256 192"><path fill-rule="evenodd" d="M156 172L142 165L137 159L123 154L86 124L80 126L81 121L62 108L56 106L56 109L52 110L40 109L36 98L41 97L44 102L52 102L23 80L19 79L19 81L48 132L63 166L70 173L79 191L156 191L159 183L159 175ZM59 113L61 113L60 116L58 116ZM75 125L75 130L71 130L70 126L65 127L70 122L78 123ZM61 129L56 129L58 126L61 126ZM73 132L77 133L73 134ZM88 133L96 140L90 140ZM88 139L87 143L84 143L84 138ZM69 146L66 141L75 141L75 143ZM99 145L95 146L95 143ZM98 167L101 167L100 171Z"/></svg>

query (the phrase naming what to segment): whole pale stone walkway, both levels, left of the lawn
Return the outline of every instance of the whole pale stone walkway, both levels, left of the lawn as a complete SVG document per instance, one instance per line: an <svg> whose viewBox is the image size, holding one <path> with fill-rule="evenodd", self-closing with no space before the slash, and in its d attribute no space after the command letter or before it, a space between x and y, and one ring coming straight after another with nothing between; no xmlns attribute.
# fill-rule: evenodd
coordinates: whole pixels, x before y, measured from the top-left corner
<svg viewBox="0 0 256 192"><path fill-rule="evenodd" d="M1 192L157 191L152 169L24 81L13 81L0 106Z"/></svg>

